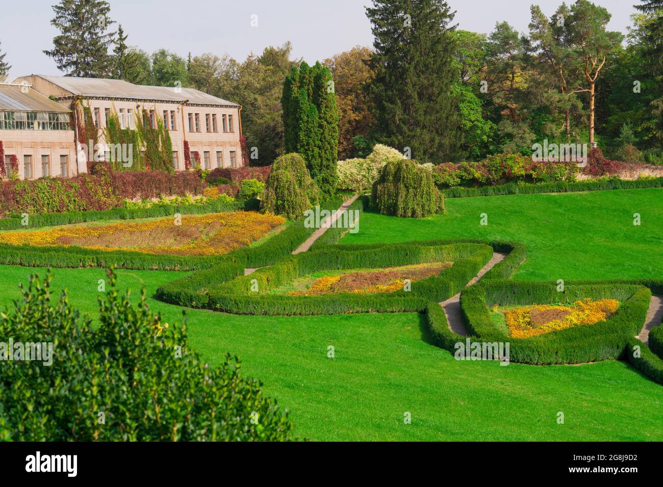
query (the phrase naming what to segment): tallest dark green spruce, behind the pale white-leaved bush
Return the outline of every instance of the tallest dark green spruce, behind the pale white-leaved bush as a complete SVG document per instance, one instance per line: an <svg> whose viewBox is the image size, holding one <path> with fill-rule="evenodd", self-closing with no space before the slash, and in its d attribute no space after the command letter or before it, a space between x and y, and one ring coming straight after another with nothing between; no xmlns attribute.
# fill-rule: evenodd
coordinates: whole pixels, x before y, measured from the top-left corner
<svg viewBox="0 0 663 487"><path fill-rule="evenodd" d="M461 140L452 95L455 13L444 0L373 0L366 13L375 36L374 138L409 147L422 161L452 160Z"/></svg>

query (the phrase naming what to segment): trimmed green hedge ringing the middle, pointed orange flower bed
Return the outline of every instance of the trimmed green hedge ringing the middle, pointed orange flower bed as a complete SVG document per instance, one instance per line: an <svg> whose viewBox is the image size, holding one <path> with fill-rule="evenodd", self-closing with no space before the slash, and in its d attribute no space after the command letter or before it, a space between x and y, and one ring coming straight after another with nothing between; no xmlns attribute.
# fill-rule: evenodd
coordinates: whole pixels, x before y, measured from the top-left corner
<svg viewBox="0 0 663 487"><path fill-rule="evenodd" d="M326 246L294 256L286 256L276 264L249 276L219 278L216 286L209 280L180 280L177 286L164 286L158 295L171 303L204 307L235 314L260 315L326 315L334 313L394 313L421 311L426 301L443 301L457 294L488 262L492 249L485 244L445 244L424 246L383 244L375 252L341 250ZM334 294L323 296L276 296L265 294L295 278L320 270L389 267L421 262L453 261L452 267L437 276L412 283L409 292L399 290L379 294ZM228 272L224 277L233 277ZM251 292L254 283L259 293ZM189 286L187 286L189 284ZM201 284L204 287L196 289Z"/></svg>

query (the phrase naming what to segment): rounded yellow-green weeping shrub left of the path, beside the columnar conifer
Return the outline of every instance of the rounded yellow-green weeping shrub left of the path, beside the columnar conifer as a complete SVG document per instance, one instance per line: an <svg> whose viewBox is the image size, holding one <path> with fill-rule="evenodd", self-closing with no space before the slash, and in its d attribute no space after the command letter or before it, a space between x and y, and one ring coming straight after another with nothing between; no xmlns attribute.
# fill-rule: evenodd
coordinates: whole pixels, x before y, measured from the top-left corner
<svg viewBox="0 0 663 487"><path fill-rule="evenodd" d="M298 219L319 201L320 189L311 179L302 156L286 154L274 161L261 201L263 211Z"/></svg>

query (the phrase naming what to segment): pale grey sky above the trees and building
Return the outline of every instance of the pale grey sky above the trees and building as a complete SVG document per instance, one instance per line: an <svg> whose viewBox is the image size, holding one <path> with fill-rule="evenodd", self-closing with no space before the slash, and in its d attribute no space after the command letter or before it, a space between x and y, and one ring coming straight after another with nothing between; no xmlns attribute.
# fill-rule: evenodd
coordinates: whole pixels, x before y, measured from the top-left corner
<svg viewBox="0 0 663 487"><path fill-rule="evenodd" d="M371 0L110 0L111 19L129 34L127 44L149 53L165 48L186 57L211 52L243 60L266 46L290 40L293 57L324 60L353 46L371 46L365 15ZM572 0L567 0L570 3ZM594 0L612 14L611 30L626 33L639 0ZM5 1L0 17L0 50L11 64L9 81L26 74L58 75L43 54L58 33L50 25L56 0ZM490 32L507 21L525 32L529 7L552 15L562 0L448 0L458 28ZM253 25L252 25L253 23ZM257 24L257 25L256 25ZM111 26L116 28L117 25Z"/></svg>

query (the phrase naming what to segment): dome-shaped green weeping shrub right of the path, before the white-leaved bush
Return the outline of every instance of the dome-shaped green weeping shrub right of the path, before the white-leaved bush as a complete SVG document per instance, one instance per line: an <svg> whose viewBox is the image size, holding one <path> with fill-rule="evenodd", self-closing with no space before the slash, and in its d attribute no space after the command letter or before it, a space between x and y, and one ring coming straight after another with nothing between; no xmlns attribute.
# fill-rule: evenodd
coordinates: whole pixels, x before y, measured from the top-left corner
<svg viewBox="0 0 663 487"><path fill-rule="evenodd" d="M371 202L383 215L426 217L444 211L431 173L411 160L391 159L373 184Z"/></svg>

